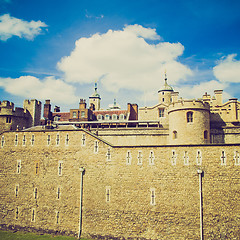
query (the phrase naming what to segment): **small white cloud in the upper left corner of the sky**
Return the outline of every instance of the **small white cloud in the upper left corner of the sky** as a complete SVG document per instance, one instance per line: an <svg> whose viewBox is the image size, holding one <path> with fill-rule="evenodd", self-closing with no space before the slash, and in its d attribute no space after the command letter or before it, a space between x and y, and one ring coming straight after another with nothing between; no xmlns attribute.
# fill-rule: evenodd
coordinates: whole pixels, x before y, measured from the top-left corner
<svg viewBox="0 0 240 240"><path fill-rule="evenodd" d="M44 22L27 22L4 14L0 16L0 40L6 41L12 36L32 40L41 33L43 27L47 27Z"/></svg>

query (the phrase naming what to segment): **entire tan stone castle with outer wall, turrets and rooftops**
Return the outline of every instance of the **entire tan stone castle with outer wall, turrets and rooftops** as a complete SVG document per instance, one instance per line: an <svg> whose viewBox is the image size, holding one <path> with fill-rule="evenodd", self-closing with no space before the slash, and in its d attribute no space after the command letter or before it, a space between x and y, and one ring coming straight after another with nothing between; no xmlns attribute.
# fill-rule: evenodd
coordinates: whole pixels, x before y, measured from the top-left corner
<svg viewBox="0 0 240 240"><path fill-rule="evenodd" d="M240 102L0 106L0 226L106 239L240 238Z"/></svg>

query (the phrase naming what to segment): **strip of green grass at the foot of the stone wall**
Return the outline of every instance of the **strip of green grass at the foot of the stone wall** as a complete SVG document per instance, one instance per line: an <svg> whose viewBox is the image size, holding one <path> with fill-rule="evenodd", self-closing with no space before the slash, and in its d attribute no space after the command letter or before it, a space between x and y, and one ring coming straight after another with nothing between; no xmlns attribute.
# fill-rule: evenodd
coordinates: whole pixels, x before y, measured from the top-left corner
<svg viewBox="0 0 240 240"><path fill-rule="evenodd" d="M74 237L39 235L35 233L0 231L1 240L76 240Z"/></svg>

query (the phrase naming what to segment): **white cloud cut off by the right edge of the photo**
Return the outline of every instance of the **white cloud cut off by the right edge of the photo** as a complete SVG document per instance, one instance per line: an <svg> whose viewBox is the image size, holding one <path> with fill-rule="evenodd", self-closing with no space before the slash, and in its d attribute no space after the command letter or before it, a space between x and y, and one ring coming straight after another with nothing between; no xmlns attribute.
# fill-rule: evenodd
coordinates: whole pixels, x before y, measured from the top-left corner
<svg viewBox="0 0 240 240"><path fill-rule="evenodd" d="M240 83L240 61L235 59L236 56L237 54L228 55L213 68L213 73L219 81Z"/></svg>

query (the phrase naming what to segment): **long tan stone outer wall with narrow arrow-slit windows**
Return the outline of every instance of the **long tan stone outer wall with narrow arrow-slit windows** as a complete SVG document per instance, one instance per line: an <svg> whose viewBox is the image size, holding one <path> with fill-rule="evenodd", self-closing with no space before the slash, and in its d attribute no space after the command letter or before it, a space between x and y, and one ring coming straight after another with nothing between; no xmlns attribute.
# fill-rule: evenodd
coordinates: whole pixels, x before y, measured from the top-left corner
<svg viewBox="0 0 240 240"><path fill-rule="evenodd" d="M199 239L202 169L205 238L240 237L239 144L116 147L84 130L0 137L1 225L77 234L84 167L83 237Z"/></svg>

